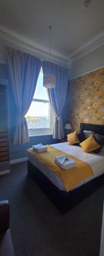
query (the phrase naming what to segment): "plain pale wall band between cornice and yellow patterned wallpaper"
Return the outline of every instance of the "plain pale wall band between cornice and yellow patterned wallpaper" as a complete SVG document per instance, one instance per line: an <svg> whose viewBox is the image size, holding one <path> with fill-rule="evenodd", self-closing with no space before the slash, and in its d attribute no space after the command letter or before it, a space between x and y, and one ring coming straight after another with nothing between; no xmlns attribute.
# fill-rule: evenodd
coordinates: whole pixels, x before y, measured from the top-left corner
<svg viewBox="0 0 104 256"><path fill-rule="evenodd" d="M69 77L72 79L102 66L104 66L104 45L73 61L69 68Z"/></svg>

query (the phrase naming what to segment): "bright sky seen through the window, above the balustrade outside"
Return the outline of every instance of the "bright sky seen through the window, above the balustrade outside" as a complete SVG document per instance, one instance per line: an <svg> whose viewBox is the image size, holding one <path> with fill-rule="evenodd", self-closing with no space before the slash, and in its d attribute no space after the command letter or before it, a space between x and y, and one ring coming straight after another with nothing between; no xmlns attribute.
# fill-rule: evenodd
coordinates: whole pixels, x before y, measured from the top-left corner
<svg viewBox="0 0 104 256"><path fill-rule="evenodd" d="M43 87L43 73L40 72L36 91L33 96L34 99L46 99L48 100L47 90ZM48 116L49 115L49 103L32 101L30 108L25 116Z"/></svg>

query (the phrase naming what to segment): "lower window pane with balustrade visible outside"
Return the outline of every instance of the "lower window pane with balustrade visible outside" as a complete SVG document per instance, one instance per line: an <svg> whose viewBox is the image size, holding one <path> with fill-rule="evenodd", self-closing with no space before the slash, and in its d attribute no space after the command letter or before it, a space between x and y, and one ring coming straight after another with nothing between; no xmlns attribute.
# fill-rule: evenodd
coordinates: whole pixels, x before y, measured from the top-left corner
<svg viewBox="0 0 104 256"><path fill-rule="evenodd" d="M25 117L28 129L50 128L49 103L32 101Z"/></svg>

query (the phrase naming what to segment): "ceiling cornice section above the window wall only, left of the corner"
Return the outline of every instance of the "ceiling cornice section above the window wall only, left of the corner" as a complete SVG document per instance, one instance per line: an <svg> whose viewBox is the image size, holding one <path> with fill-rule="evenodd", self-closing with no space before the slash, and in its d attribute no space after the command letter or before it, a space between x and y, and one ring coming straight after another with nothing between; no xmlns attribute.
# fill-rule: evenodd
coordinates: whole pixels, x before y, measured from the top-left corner
<svg viewBox="0 0 104 256"><path fill-rule="evenodd" d="M41 46L40 44L37 44L33 40L28 39L27 37L24 37L13 30L10 30L3 25L0 25L0 37L12 42L16 46L20 46L23 49L29 50L33 52L34 54L37 53L41 55L43 59L49 58L49 48ZM60 54L56 51L51 50L51 60L53 62L61 63L62 66L67 66L67 57L63 54Z"/></svg>

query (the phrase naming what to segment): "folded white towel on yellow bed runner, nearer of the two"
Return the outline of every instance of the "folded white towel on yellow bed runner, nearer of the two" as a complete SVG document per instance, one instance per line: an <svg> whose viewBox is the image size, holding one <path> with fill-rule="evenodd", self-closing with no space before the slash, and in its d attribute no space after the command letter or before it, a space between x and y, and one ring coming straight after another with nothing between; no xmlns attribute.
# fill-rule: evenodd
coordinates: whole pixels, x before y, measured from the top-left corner
<svg viewBox="0 0 104 256"><path fill-rule="evenodd" d="M76 161L67 157L66 155L56 156L54 158L55 163L57 163L62 169L69 169L76 166Z"/></svg>

